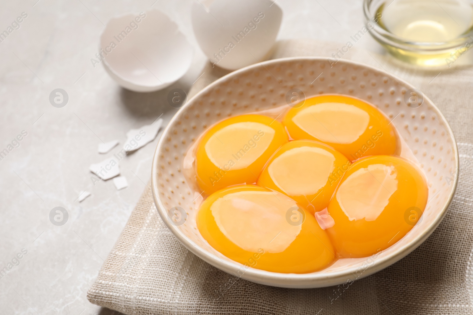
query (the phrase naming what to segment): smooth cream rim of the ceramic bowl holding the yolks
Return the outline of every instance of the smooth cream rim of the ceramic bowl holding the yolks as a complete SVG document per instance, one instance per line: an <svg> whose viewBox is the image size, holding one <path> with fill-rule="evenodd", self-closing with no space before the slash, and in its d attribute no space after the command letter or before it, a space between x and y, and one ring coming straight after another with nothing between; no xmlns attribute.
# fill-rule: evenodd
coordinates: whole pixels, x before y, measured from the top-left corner
<svg viewBox="0 0 473 315"><path fill-rule="evenodd" d="M249 69L258 68L262 66L264 67L266 65L271 65L271 64L277 64L279 62L326 61L326 60L327 58L324 58L324 57L289 57L289 58L267 60L267 61L255 63L253 65L235 70L215 80L210 85L207 85L197 94L195 94L188 102L184 104L183 107L179 109L179 111L176 112L173 118L169 121L168 125L163 131L163 134L161 135L161 138L159 139L158 145L156 146L156 150L153 156L153 161L151 165L151 191L153 194L153 199L156 205L156 209L158 210L158 213L161 219L164 221L168 229L171 230L171 232L175 235L175 237L181 242L181 244L183 244L187 249L189 249L194 255L197 255L202 260L213 265L214 267L219 268L220 270L223 270L233 275L235 275L236 271L240 270L241 266L243 266L242 264L239 264L234 261L223 261L219 259L216 255L211 254L210 252L202 249L200 246L195 244L192 240L187 238L178 227L176 227L169 221L169 218L165 211L166 208L161 203L161 200L158 197L158 178L157 178L158 152L161 146L163 145L164 140L166 139L166 134L169 132L171 126L177 119L178 114L180 114L182 111L185 111L186 108L190 106L189 104L193 103L194 99L201 96L202 94L207 93L214 86L219 85L221 82L227 80L229 77L245 72ZM365 65L361 62L352 61L352 60L339 60L338 62L349 64L352 66L369 68L375 72L384 73L386 76L393 77L395 80L402 82L405 86L414 88L411 84L405 82L403 79L393 76L392 74L389 74L382 69L378 69L369 65ZM448 124L447 119L445 119L445 116L438 109L438 107L432 101L430 101L430 99L425 95L424 95L424 99L430 102L431 106L438 112L438 114L441 116L443 121L445 121L446 127L448 129L448 133L452 137L454 156L455 156L455 177L454 177L455 180L454 180L453 189L451 190L451 193L448 196L447 202L444 204L444 207L441 213L439 213L439 215L437 216L436 220L432 221L429 226L426 226L425 229L417 237L415 237L413 241L411 241L411 243L409 243L408 245L404 247L400 247L397 250L390 253L389 255L386 255L382 258L377 258L375 263L372 265L369 265L368 268L364 270L364 272L357 278L357 280L364 278L368 275L371 275L375 272L378 272L380 270L383 270L384 268L390 266L391 264L394 264L395 262L401 260L403 257L410 254L414 249L419 247L420 244L422 244L430 236L430 234L432 234L432 232L438 227L438 224L440 224L440 222L443 220L443 218L445 217L447 213L447 209L449 205L451 204L453 196L455 194L455 190L456 190L456 186L458 182L458 172L459 172L459 156L458 156L458 148L457 148L455 136L453 134L452 129L450 128L450 125ZM367 258L369 258L369 256ZM318 287L327 287L327 286L345 283L348 279L350 279L353 276L352 272L356 272L357 270L358 268L356 267L350 267L350 268L347 268L346 270L336 271L336 272L279 273L279 272L264 271L264 270L255 269L255 268L248 268L245 270L244 274L241 277L248 281L261 283L265 285L276 286L276 287L318 288Z"/></svg>

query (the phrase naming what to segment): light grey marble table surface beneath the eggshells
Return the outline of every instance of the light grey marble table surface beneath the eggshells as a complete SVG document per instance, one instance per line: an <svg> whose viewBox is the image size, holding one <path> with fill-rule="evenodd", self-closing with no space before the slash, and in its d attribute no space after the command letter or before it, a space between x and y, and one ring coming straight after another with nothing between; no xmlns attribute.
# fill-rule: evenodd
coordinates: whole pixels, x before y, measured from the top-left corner
<svg viewBox="0 0 473 315"><path fill-rule="evenodd" d="M278 39L312 38L346 43L360 29L361 0L277 0L283 9ZM120 161L129 187L92 182L89 165L108 157L97 145L152 123L175 109L170 89L189 90L206 58L196 44L191 0L23 0L0 2L0 31L23 12L20 27L0 43L0 313L112 314L88 302L88 288L114 246L150 178L158 137ZM166 12L195 47L193 64L174 85L154 93L119 87L102 65L93 67L99 34L114 16L150 8ZM382 52L370 37L359 48ZM57 88L69 101L49 102ZM22 134L23 133L23 134ZM26 134L26 136L25 136ZM20 135L20 136L18 136ZM21 141L14 141L18 136ZM112 151L113 152L113 151ZM112 153L110 153L112 154ZM79 202L83 190L91 196ZM50 221L54 207L68 214ZM10 265L9 265L10 264ZM11 269L9 269L11 267Z"/></svg>

